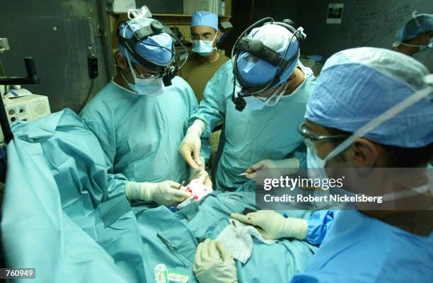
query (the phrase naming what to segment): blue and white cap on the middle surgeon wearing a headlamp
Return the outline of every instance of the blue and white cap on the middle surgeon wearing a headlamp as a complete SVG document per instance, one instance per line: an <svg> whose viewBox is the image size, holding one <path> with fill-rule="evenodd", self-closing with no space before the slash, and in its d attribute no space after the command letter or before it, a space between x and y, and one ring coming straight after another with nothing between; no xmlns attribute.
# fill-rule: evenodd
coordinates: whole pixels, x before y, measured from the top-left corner
<svg viewBox="0 0 433 283"><path fill-rule="evenodd" d="M298 52L298 40L294 37L293 33L281 25L262 25L260 28L254 28L251 30L247 37L262 41L264 45L275 50L280 55L284 54L287 45L289 45L291 40L285 59L290 59L294 54L296 54L296 52ZM282 83L287 81L298 63L299 54L297 56L298 58L294 60L294 63L289 66L287 71L280 76L279 81L272 87L280 86ZM241 52L239 54L237 64L238 76L240 76L249 86L260 86L269 83L274 79L275 74L277 73L277 67L262 59L258 59L258 57L255 57L248 52Z"/></svg>

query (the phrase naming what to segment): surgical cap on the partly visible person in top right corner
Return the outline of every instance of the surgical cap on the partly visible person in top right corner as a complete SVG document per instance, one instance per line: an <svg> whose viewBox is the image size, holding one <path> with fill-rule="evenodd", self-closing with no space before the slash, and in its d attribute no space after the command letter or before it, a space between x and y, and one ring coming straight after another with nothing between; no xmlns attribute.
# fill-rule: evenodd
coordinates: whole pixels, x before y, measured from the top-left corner
<svg viewBox="0 0 433 283"><path fill-rule="evenodd" d="M397 39L402 42L417 37L420 33L426 33L433 30L433 14L421 13L413 14L412 18L397 31Z"/></svg>

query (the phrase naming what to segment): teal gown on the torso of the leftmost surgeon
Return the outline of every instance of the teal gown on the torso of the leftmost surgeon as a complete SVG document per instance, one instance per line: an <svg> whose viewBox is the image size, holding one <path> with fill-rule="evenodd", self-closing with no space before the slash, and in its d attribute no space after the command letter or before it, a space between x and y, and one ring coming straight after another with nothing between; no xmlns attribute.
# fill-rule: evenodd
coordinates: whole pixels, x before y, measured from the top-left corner
<svg viewBox="0 0 433 283"><path fill-rule="evenodd" d="M178 148L197 99L180 77L172 83L161 96L151 97L111 81L81 112L113 164L109 173L137 182L187 180Z"/></svg>

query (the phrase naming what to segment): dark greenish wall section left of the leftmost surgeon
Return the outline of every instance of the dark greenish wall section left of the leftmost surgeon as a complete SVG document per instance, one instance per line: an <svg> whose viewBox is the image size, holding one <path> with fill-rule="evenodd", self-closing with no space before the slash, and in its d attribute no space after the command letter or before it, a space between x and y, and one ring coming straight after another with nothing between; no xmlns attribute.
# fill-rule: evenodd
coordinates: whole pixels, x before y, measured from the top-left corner
<svg viewBox="0 0 433 283"><path fill-rule="evenodd" d="M2 1L0 37L11 50L0 54L8 76L25 74L23 57L35 58L40 85L24 86L49 97L52 112L79 111L91 88L87 57L96 47L99 76L92 93L112 74L108 13L103 0ZM109 53L108 53L109 52Z"/></svg>

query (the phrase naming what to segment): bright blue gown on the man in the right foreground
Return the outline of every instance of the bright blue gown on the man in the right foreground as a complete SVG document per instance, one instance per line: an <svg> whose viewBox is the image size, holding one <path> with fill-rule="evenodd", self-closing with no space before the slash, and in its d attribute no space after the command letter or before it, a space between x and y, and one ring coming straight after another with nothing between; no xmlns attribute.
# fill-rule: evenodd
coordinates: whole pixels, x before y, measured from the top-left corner
<svg viewBox="0 0 433 283"><path fill-rule="evenodd" d="M319 244L292 283L432 282L433 232L417 236L354 210L316 212L306 241Z"/></svg>

